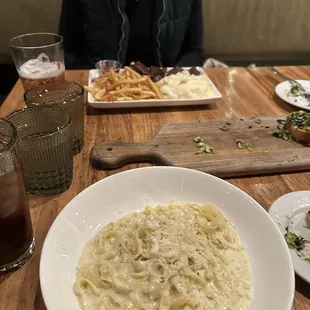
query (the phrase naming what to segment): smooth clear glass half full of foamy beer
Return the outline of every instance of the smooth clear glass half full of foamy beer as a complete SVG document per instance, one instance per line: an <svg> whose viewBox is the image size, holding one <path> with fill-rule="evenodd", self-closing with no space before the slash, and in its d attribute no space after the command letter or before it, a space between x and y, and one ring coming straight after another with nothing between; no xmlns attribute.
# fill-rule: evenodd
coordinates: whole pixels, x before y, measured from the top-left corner
<svg viewBox="0 0 310 310"><path fill-rule="evenodd" d="M25 90L46 81L65 79L61 36L53 33L23 34L12 38L9 47Z"/></svg>

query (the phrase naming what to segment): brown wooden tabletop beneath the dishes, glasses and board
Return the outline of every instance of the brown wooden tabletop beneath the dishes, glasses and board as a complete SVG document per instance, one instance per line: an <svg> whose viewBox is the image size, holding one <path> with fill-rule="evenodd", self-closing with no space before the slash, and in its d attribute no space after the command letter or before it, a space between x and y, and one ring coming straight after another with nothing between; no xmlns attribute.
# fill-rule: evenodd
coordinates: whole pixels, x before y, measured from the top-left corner
<svg viewBox="0 0 310 310"><path fill-rule="evenodd" d="M294 78L310 79L310 67L279 69ZM39 261L44 238L58 213L89 185L121 170L142 166L129 165L121 170L97 171L89 165L88 161L89 152L95 143L117 139L125 142L143 142L148 140L162 124L169 122L263 115L283 116L293 110L293 107L274 96L274 87L280 80L267 68L208 69L207 73L223 95L223 99L216 105L136 110L94 110L86 107L85 146L82 153L74 158L73 183L70 189L60 196L29 197L36 236L36 251L31 260L20 270L0 277L0 310L46 309L40 291ZM88 73L69 71L67 78L85 85ZM3 103L0 116L3 117L23 106L23 88L18 81ZM286 193L310 189L308 172L228 181L251 195L265 209ZM293 309L310 310L310 285L298 277L296 277Z"/></svg>

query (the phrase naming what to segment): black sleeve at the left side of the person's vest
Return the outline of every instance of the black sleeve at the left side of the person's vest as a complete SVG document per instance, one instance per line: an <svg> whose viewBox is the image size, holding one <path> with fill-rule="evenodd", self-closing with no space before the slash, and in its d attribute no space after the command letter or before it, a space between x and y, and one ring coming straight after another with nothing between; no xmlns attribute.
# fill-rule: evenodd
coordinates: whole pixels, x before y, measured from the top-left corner
<svg viewBox="0 0 310 310"><path fill-rule="evenodd" d="M79 0L62 1L59 34L64 38L66 68L88 68L85 53L84 17Z"/></svg>

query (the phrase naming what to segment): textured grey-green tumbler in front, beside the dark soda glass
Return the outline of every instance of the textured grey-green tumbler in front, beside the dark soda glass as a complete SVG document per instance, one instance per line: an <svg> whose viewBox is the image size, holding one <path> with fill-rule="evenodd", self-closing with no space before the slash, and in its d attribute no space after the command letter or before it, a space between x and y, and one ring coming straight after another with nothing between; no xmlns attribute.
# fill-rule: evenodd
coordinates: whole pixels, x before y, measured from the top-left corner
<svg viewBox="0 0 310 310"><path fill-rule="evenodd" d="M17 128L26 190L64 192L72 182L72 123L57 107L25 108L8 116Z"/></svg>

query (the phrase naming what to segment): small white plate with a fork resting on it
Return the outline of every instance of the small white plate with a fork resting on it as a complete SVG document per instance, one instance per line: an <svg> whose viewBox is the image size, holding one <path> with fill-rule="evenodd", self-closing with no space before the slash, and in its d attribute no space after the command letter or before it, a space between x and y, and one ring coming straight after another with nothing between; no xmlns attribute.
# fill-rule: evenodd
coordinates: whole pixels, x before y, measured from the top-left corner
<svg viewBox="0 0 310 310"><path fill-rule="evenodd" d="M306 90L310 91L310 81L297 80ZM310 111L310 101L302 96L293 97L288 95L292 84L289 81L282 82L276 86L276 94L285 102L303 110Z"/></svg>

